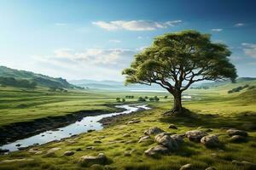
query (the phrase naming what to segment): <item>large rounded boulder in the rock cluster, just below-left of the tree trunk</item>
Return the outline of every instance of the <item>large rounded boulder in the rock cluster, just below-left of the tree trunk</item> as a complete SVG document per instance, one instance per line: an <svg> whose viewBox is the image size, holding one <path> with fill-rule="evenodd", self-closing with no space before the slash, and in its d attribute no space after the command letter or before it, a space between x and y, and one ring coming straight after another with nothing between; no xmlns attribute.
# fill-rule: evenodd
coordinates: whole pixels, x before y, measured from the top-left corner
<svg viewBox="0 0 256 170"><path fill-rule="evenodd" d="M172 139L171 136L169 136L166 133L160 133L157 134L154 137L154 140L163 146L166 146L169 150L177 150L177 141Z"/></svg>

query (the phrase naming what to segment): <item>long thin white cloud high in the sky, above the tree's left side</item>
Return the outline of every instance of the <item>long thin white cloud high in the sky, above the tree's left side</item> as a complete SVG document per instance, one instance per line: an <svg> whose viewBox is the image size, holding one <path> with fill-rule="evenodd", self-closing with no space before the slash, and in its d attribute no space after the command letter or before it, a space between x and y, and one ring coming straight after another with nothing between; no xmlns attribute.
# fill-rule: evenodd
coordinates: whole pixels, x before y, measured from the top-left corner
<svg viewBox="0 0 256 170"><path fill-rule="evenodd" d="M128 30L128 31L154 31L160 28L177 26L182 20L172 20L166 22L156 22L152 20L113 20L113 21L96 21L93 25L99 26L108 31Z"/></svg>

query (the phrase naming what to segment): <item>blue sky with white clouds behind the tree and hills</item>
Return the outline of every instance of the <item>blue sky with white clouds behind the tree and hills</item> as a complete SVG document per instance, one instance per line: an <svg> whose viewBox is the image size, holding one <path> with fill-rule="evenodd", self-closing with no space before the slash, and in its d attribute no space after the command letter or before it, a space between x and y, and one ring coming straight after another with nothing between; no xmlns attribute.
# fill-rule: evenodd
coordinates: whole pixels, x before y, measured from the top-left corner
<svg viewBox="0 0 256 170"><path fill-rule="evenodd" d="M134 54L166 32L195 29L256 77L256 1L0 0L0 65L52 77L119 80Z"/></svg>

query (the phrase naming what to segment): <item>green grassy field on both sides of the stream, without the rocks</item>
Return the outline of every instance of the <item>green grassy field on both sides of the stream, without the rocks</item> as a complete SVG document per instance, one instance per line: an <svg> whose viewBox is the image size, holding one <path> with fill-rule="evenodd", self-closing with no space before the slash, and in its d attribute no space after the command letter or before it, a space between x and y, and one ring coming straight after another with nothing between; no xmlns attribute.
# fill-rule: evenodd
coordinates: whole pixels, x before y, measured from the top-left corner
<svg viewBox="0 0 256 170"><path fill-rule="evenodd" d="M254 82L253 82L254 84ZM210 88L207 90L193 89L188 92L194 99L184 101L183 106L191 111L190 116L170 117L163 116L163 113L172 107L172 99L163 99L165 94L161 94L160 102L148 102L154 109L150 111L141 111L130 116L123 116L119 122L115 122L101 131L80 134L78 137L66 139L60 142L53 142L41 146L35 146L38 154L31 153L29 150L22 150L10 153L7 156L0 156L0 162L3 160L12 160L0 163L0 169L157 169L178 170L182 165L191 163L193 169L206 169L215 167L218 170L240 170L249 169L247 166L232 164L232 160L255 162L256 155L256 91L241 90L239 93L227 94L231 88L236 88L241 84L230 84L222 88ZM54 116L65 114L68 111L94 109L101 106L102 109L108 109L104 104L114 103L116 97L124 97L131 93L103 93L103 92L84 92L76 94L71 92L67 94L49 94L43 93L41 99L38 95L26 93L17 95L15 102L9 104L8 96L11 92L5 90L6 97L1 102L1 123L8 122L8 117L4 115L9 111L10 117L15 117L9 122L16 122L24 116L27 119L34 119L39 116ZM20 92L21 93L21 92ZM40 92L38 92L40 93ZM132 95L132 94L131 94ZM134 95L143 96L146 94L134 93ZM160 94L148 94L160 95ZM137 98L136 97L136 98ZM2 98L1 98L2 99ZM9 100L9 101L10 101ZM43 101L44 100L44 101ZM135 100L135 99L134 99ZM21 104L26 104L25 108L18 108ZM42 103L41 103L42 102ZM29 105L29 106L28 106ZM34 114L34 112L38 114ZM60 113L61 112L61 113ZM20 113L20 116L16 114ZM29 114L30 113L30 114ZM209 115L211 114L211 115ZM20 118L18 118L20 117ZM5 120L2 120L5 119ZM125 125L125 122L132 118L141 120L139 123ZM11 119L11 118L10 118ZM177 129L170 129L169 124L177 125ZM184 143L176 151L166 156L155 158L144 155L144 150L156 145L154 136L152 140L146 143L138 143L140 136L148 127L160 127L168 133L185 133L188 130L201 127L202 130L212 129L211 134L220 134L219 140L221 146L209 149L203 144L191 142L184 139ZM231 143L229 136L222 127L235 127L246 130L249 134L244 143ZM124 137L125 133L130 136ZM94 143L101 140L102 143ZM86 147L94 146L94 150L87 150ZM46 154L52 148L60 148L53 154ZM76 151L81 149L81 151ZM73 150L73 156L63 156L67 150ZM96 156L103 152L108 156L108 166L96 165L87 167L79 162L81 156ZM129 153L129 154L127 154ZM20 159L23 159L20 161ZM17 161L18 160L18 161Z"/></svg>

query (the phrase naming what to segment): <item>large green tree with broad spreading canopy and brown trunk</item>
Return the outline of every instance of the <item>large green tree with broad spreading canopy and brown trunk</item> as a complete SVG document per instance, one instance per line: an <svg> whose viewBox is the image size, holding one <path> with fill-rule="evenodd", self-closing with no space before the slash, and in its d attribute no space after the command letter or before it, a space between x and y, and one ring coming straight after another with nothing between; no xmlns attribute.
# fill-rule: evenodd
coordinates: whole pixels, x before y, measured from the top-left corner
<svg viewBox="0 0 256 170"><path fill-rule="evenodd" d="M180 31L155 37L153 44L135 55L126 68L125 83L159 84L174 97L173 113L183 113L182 93L194 82L236 80L231 52L209 34Z"/></svg>

